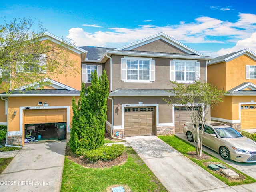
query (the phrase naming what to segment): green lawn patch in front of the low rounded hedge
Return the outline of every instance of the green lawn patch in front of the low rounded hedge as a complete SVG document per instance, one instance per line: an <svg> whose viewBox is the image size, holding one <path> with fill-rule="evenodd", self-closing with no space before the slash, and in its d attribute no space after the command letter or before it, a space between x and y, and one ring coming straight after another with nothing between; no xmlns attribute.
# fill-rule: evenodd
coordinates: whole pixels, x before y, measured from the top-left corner
<svg viewBox="0 0 256 192"><path fill-rule="evenodd" d="M111 168L85 168L65 158L61 192L104 192L108 186L126 185L134 192L166 192L139 156L126 147L127 162Z"/></svg>

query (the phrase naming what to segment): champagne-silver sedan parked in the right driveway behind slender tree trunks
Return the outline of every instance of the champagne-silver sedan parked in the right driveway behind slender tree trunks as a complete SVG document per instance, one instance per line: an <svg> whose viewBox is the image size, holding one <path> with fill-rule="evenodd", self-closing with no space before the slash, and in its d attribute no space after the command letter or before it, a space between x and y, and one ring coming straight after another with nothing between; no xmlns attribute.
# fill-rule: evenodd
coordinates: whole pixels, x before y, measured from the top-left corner
<svg viewBox="0 0 256 192"><path fill-rule="evenodd" d="M199 125L201 132L202 124ZM187 139L194 141L192 122L184 124L183 132ZM256 162L256 142L242 136L238 131L220 122L207 121L203 132L203 145L218 152L225 160Z"/></svg>

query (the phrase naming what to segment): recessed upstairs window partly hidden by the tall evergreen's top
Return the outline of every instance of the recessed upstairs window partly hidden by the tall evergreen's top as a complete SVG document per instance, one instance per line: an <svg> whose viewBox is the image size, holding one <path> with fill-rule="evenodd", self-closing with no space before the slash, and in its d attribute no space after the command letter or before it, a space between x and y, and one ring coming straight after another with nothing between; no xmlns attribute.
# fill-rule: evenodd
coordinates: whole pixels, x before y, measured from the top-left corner
<svg viewBox="0 0 256 192"><path fill-rule="evenodd" d="M92 82L92 72L97 71L98 78L102 75L101 65L82 64L82 79L84 83Z"/></svg>

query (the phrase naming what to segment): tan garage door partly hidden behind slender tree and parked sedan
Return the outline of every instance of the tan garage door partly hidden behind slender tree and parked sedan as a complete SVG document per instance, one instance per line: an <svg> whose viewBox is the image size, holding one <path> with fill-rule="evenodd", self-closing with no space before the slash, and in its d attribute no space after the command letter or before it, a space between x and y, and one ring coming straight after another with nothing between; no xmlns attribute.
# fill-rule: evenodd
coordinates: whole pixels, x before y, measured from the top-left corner
<svg viewBox="0 0 256 192"><path fill-rule="evenodd" d="M184 124L191 121L190 115L184 106L174 108L175 134L183 133Z"/></svg>

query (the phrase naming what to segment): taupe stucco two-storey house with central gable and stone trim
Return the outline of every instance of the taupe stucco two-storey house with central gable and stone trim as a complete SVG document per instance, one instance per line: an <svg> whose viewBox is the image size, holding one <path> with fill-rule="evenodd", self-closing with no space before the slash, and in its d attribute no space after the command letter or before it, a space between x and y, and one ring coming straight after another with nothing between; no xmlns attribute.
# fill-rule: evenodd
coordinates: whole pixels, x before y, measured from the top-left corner
<svg viewBox="0 0 256 192"><path fill-rule="evenodd" d="M206 80L204 56L166 34L160 33L120 48L82 47L82 79L106 70L109 79L106 130L118 137L183 133L190 116L184 106L168 105L173 94L170 80L192 83ZM210 116L210 114L208 114Z"/></svg>

